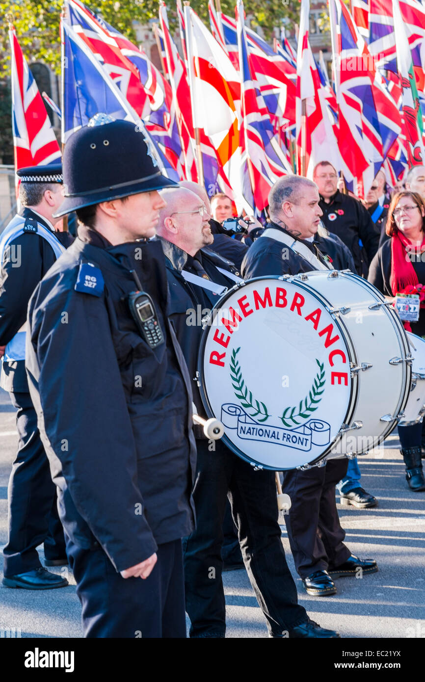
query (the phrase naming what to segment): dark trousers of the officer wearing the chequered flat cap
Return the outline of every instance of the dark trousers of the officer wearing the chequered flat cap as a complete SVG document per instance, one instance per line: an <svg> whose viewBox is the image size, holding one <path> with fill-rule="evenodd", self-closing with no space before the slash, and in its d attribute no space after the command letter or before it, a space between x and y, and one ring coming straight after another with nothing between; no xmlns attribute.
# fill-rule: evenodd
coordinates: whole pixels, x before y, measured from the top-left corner
<svg viewBox="0 0 425 682"><path fill-rule="evenodd" d="M43 543L46 559L66 556L56 486L40 441L31 398L29 393L11 393L10 399L18 410L19 441L8 488L9 541L3 550L6 578L40 567L35 548Z"/></svg>

